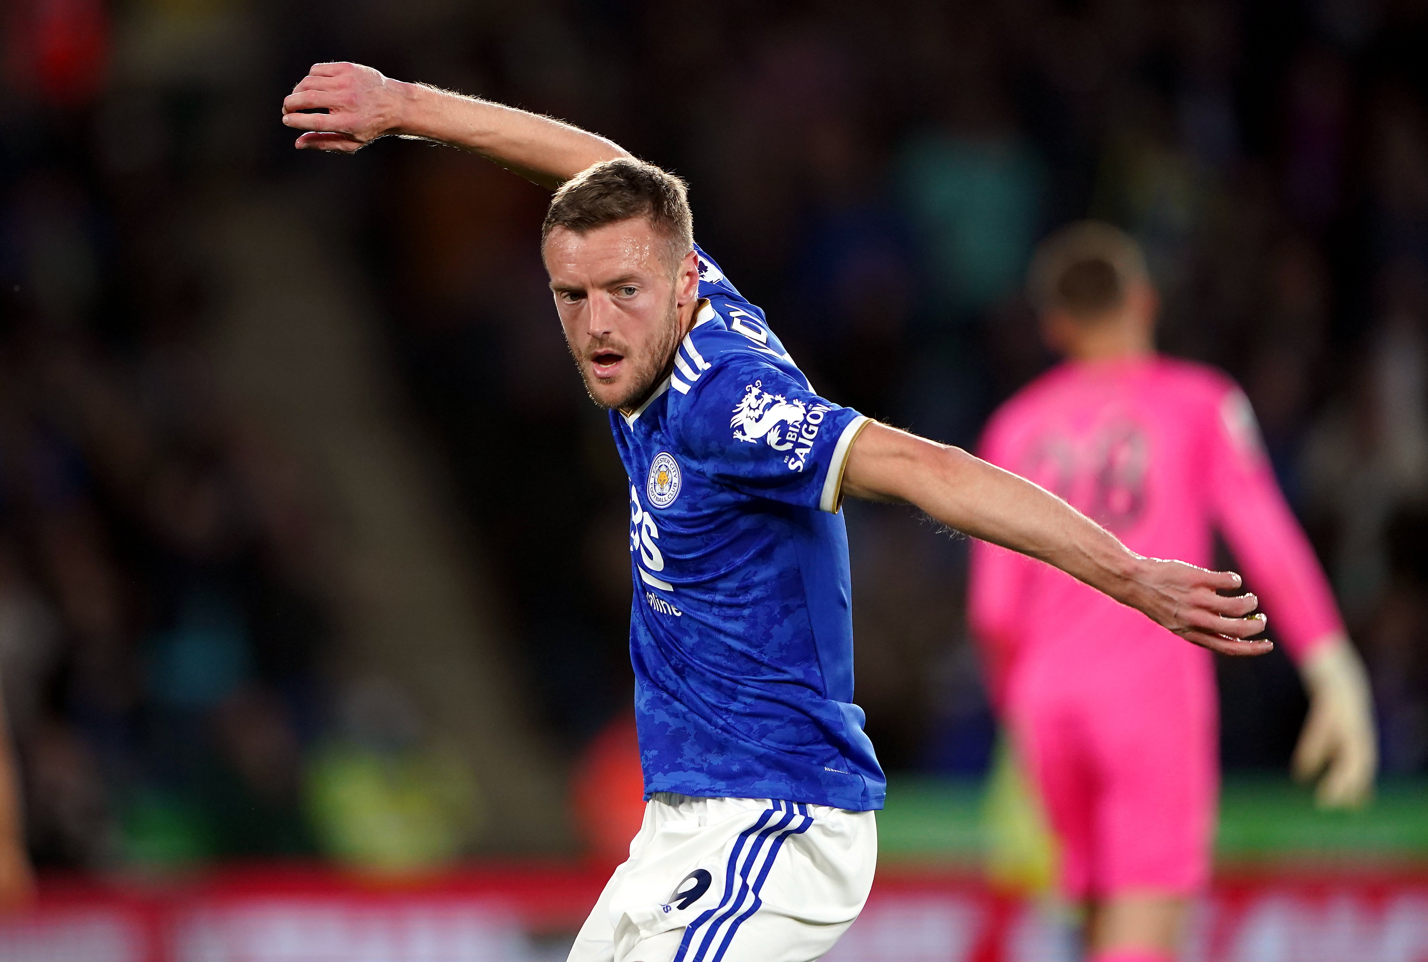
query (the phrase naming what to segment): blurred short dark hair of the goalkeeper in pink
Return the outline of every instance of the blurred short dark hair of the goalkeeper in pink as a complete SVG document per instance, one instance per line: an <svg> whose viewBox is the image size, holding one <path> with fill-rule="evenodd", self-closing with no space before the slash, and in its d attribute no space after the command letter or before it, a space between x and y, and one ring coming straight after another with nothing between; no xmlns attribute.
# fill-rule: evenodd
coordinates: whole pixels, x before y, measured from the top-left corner
<svg viewBox="0 0 1428 962"><path fill-rule="evenodd" d="M1041 313L1091 320L1118 308L1131 285L1148 280L1145 254L1135 238L1120 227L1082 220L1041 241L1027 295Z"/></svg>

